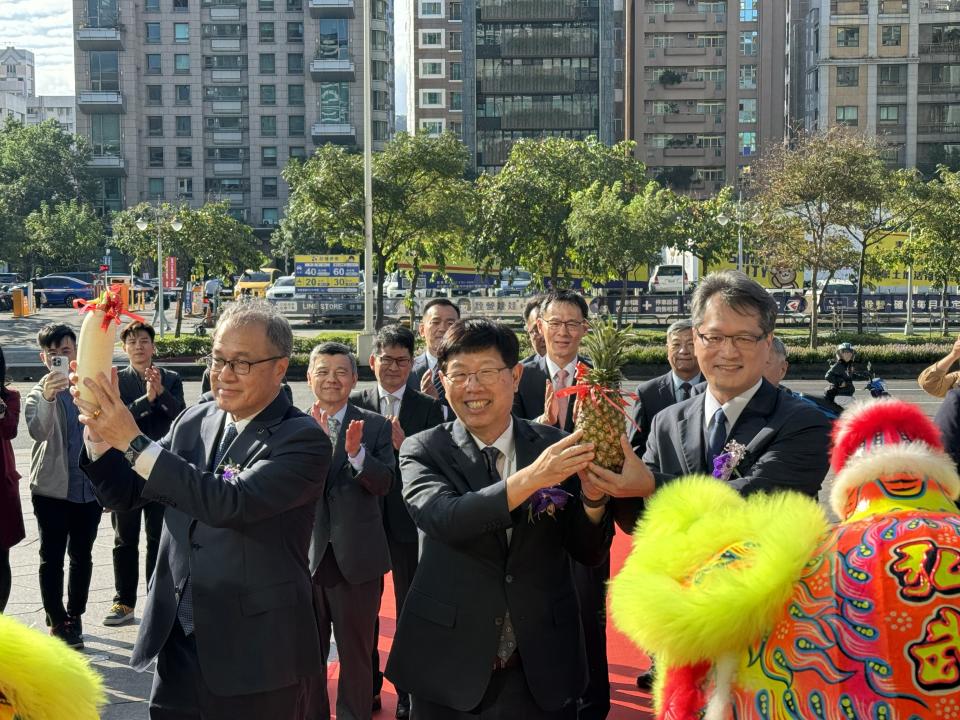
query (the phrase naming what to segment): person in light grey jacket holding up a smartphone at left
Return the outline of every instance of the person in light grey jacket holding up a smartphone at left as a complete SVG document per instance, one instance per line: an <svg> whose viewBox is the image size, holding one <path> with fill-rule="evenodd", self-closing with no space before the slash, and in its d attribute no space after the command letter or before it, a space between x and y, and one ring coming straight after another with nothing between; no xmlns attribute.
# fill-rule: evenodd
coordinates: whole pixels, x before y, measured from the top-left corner
<svg viewBox="0 0 960 720"><path fill-rule="evenodd" d="M103 509L80 470L83 426L70 395L70 363L77 336L69 325L45 325L37 333L40 359L50 371L24 402L30 452L30 492L40 531L40 596L50 634L83 649L83 613L93 574L93 543ZM69 550L67 604L63 603L64 556Z"/></svg>

